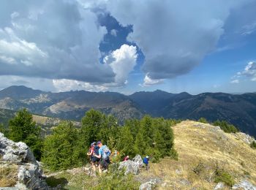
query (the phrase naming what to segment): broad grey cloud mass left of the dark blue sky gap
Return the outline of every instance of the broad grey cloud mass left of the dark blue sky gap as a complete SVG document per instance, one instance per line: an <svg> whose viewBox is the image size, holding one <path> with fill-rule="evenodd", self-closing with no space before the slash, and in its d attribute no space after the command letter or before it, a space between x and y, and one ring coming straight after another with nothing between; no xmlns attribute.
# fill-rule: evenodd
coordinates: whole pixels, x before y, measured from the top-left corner
<svg viewBox="0 0 256 190"><path fill-rule="evenodd" d="M107 30L76 1L1 1L0 75L112 83L100 64Z"/></svg>

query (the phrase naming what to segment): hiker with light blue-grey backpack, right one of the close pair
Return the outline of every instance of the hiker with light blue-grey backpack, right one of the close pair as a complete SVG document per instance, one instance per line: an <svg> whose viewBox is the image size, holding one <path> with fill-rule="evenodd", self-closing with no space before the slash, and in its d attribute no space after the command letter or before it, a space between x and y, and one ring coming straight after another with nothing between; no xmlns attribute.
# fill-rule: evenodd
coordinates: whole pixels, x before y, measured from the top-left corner
<svg viewBox="0 0 256 190"><path fill-rule="evenodd" d="M93 154L95 157L99 159L99 175L102 174L102 169L108 170L108 164L110 164L110 154L111 151L109 150L107 145L102 145L102 142L97 142L99 146L99 155Z"/></svg>

